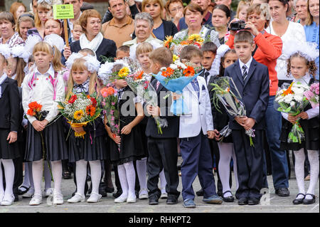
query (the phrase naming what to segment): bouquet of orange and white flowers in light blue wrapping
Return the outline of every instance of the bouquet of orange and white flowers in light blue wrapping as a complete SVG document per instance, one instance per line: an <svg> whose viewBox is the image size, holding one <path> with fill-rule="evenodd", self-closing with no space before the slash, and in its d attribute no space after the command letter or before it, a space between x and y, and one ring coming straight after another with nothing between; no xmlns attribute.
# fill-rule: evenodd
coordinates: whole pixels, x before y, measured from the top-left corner
<svg viewBox="0 0 320 227"><path fill-rule="evenodd" d="M185 65L179 60L176 60L168 68L161 68L157 75L154 75L156 80L159 80L161 85L163 85L167 90L173 93L181 94L183 88L188 85L192 80L194 80L199 74L196 73L195 68L190 65ZM166 95L168 97L168 95ZM164 98L166 98L164 97ZM174 115L187 114L188 107L183 103L183 97L178 100L174 100L171 105L170 111Z"/></svg>

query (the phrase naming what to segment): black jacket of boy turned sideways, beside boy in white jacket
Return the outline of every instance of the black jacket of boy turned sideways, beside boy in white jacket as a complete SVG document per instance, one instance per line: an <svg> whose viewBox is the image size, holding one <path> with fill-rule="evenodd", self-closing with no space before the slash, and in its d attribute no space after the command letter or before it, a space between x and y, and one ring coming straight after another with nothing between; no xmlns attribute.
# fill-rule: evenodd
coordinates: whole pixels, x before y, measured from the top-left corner
<svg viewBox="0 0 320 227"><path fill-rule="evenodd" d="M151 85L156 89L156 82L158 80L154 79L151 81ZM163 92L163 93L161 93ZM158 105L160 106L159 103L164 103L164 93L167 93L168 90L164 88L163 85L159 85L158 90L156 91L156 94L158 96ZM162 134L158 133L158 127L156 127L156 122L154 120L154 117L150 116L148 117L148 122L146 123L146 137L154 137L154 138L159 138L159 139L167 139L167 138L176 138L179 137L179 117L173 115L170 112L170 107L171 107L171 96L169 96L166 101L165 101L165 106L161 107L161 117L163 119L166 119L168 122L167 127L162 127ZM144 106L146 103L144 103Z"/></svg>

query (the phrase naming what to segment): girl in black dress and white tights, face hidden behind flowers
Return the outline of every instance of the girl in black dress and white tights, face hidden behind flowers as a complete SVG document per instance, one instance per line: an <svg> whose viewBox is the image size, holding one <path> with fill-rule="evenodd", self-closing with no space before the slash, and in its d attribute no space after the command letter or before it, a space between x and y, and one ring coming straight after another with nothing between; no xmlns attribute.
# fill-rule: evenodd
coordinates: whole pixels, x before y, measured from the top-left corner
<svg viewBox="0 0 320 227"><path fill-rule="evenodd" d="M115 63L112 73L122 70L121 63ZM114 203L135 203L136 194L134 185L136 174L134 161L146 157L146 150L142 142L144 132L137 127L144 118L142 105L134 103L134 93L127 85L126 80L115 80L115 90L118 96L119 133L115 134L107 126L107 132L112 139L110 143L110 159L117 166L122 194L114 199ZM110 122L109 122L110 124ZM139 165L139 164L138 164ZM144 175L145 176L145 175Z"/></svg>

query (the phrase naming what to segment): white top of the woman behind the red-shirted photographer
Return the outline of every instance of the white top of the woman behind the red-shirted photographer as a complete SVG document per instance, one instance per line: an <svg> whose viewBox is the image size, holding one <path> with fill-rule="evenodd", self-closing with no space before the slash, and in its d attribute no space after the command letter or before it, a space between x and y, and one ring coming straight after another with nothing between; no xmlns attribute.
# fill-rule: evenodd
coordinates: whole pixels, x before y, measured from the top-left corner
<svg viewBox="0 0 320 227"><path fill-rule="evenodd" d="M265 29L268 33L277 36L272 27L272 22L270 26ZM289 21L289 26L287 31L280 37L282 39L282 54L277 59L277 65L275 70L277 71L278 80L293 80L292 75L287 75L287 58L285 54L285 47L290 45L291 41L294 40L295 43L306 42L306 33L304 32L304 27L300 23L294 23Z"/></svg>

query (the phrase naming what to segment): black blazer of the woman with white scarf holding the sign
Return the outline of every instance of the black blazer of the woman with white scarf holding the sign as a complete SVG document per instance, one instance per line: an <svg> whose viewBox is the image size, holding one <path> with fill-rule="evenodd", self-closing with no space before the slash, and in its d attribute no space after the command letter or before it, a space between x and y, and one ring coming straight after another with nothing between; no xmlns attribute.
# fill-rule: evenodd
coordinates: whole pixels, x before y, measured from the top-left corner
<svg viewBox="0 0 320 227"><path fill-rule="evenodd" d="M78 53L81 50L80 41L75 41L70 44L71 53ZM103 38L100 46L97 48L95 55L97 56L97 60L101 61L100 56L106 56L107 58L116 57L117 46L114 41Z"/></svg>

